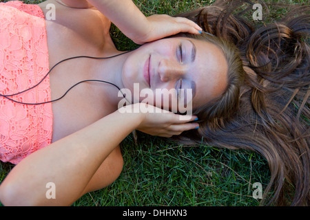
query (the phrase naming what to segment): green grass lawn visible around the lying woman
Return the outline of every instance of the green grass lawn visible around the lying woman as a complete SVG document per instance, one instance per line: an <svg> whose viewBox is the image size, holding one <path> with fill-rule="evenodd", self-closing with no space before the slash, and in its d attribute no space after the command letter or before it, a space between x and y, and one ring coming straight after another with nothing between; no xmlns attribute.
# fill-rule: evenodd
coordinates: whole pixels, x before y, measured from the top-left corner
<svg viewBox="0 0 310 220"><path fill-rule="evenodd" d="M210 5L214 1L134 2L146 15L172 15ZM300 4L308 1L287 2ZM283 12L285 9L269 16L275 19ZM115 26L112 26L111 34L119 50L136 47ZM120 177L107 188L87 193L73 206L258 206L260 200L252 196L253 184L260 182L264 190L269 182L266 160L249 151L230 151L214 146L178 146L143 133L138 133L137 145L132 135L128 136L121 149L124 166ZM0 162L0 184L12 167Z"/></svg>

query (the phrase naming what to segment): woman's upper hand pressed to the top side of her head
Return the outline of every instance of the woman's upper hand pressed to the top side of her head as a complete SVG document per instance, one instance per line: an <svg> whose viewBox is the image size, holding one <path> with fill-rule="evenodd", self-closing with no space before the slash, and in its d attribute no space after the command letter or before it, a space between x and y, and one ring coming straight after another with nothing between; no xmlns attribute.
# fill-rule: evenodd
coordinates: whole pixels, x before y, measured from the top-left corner
<svg viewBox="0 0 310 220"><path fill-rule="evenodd" d="M147 22L148 24L144 28L144 34L130 37L134 43L143 44L156 41L180 32L200 34L200 31L202 31L194 21L183 17L171 17L167 14L154 14L147 17Z"/></svg>

